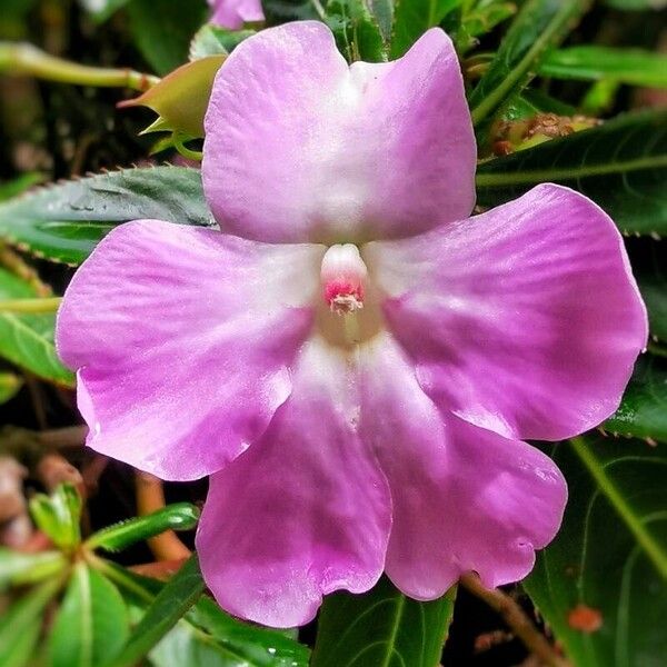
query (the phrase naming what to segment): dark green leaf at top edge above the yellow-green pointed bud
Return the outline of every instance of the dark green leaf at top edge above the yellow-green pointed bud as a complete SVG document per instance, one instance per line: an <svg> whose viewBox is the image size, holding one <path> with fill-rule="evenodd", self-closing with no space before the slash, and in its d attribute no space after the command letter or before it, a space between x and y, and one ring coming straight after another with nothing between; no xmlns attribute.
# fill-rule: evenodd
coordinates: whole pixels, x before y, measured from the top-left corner
<svg viewBox="0 0 667 667"><path fill-rule="evenodd" d="M127 10L135 43L160 76L188 60L192 36L209 14L206 0L132 0Z"/></svg>

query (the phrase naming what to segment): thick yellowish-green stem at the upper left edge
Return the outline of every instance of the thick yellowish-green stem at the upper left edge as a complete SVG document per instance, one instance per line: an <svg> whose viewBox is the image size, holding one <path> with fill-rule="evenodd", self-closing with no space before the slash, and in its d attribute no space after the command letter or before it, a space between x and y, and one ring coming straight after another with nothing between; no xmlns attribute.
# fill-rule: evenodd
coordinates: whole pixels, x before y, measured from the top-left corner
<svg viewBox="0 0 667 667"><path fill-rule="evenodd" d="M160 79L131 69L89 67L56 58L26 42L0 42L0 72L61 83L148 90Z"/></svg>

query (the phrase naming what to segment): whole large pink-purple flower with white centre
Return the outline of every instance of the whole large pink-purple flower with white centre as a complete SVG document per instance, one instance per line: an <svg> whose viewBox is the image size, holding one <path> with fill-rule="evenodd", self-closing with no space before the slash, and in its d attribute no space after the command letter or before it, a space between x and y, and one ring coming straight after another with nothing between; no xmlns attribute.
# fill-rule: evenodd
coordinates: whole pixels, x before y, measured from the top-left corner
<svg viewBox="0 0 667 667"><path fill-rule="evenodd" d="M524 577L566 485L522 440L618 406L647 337L621 238L554 185L468 218L475 139L450 40L349 66L328 28L242 42L206 118L222 233L115 229L58 320L96 450L212 475L220 605L273 626L382 570L440 596Z"/></svg>

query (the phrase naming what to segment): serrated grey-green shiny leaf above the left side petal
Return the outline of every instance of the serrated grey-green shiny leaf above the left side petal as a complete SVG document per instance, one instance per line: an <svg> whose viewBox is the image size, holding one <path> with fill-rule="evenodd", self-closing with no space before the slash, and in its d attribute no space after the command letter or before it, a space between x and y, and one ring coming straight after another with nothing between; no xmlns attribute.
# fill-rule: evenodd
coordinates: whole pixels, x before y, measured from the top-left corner
<svg viewBox="0 0 667 667"><path fill-rule="evenodd" d="M200 171L126 169L41 188L0 205L0 237L47 259L80 263L113 227L141 218L213 226Z"/></svg>

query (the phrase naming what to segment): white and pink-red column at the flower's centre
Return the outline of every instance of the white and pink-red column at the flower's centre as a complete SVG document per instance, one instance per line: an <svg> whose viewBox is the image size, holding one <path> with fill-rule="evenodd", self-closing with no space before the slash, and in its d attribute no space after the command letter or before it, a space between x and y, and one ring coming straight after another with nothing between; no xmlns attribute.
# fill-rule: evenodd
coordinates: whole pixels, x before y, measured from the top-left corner
<svg viewBox="0 0 667 667"><path fill-rule="evenodd" d="M322 296L332 312L342 316L364 308L368 270L357 246L331 246L322 258L320 276Z"/></svg>

